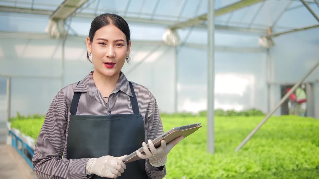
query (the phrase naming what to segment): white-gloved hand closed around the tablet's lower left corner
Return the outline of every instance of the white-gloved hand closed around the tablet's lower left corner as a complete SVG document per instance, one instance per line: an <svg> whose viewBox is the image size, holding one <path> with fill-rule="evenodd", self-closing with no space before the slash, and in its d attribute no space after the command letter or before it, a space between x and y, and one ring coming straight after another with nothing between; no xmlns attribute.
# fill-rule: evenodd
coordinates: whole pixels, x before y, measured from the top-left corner
<svg viewBox="0 0 319 179"><path fill-rule="evenodd" d="M126 156L112 157L105 155L100 158L91 158L86 163L85 172L88 175L95 174L101 177L117 178L126 169L126 165L123 163Z"/></svg>

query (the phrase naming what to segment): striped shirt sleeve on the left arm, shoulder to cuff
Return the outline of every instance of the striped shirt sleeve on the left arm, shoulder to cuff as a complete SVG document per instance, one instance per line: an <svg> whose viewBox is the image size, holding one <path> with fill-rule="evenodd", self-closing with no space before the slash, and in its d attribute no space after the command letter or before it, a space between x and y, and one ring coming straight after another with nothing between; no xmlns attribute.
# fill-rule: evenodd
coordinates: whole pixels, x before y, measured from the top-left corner
<svg viewBox="0 0 319 179"><path fill-rule="evenodd" d="M61 91L60 91L61 92ZM58 93L59 95L59 93ZM54 98L44 119L39 136L36 140L32 165L38 179L87 179L85 166L88 158L62 159L65 132L68 125L67 108L59 108L64 99ZM60 95L61 96L61 95ZM63 112L62 112L63 111Z"/></svg>

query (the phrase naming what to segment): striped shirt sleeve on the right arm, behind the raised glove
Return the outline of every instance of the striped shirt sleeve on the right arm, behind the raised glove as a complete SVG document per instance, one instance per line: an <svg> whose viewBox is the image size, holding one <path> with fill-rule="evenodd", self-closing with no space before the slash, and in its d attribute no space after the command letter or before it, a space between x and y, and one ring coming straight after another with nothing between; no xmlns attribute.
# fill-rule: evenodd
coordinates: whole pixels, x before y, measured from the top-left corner
<svg viewBox="0 0 319 179"><path fill-rule="evenodd" d="M149 105L151 109L149 109L149 113L147 116L147 140L153 140L162 135L163 132L163 124L161 118L159 116L159 109L157 106L157 102L154 97L152 97L151 105ZM161 169L161 170L160 170ZM154 167L150 164L149 160L145 161L145 171L149 178L151 179L161 179L166 175L166 167L165 165L162 167Z"/></svg>

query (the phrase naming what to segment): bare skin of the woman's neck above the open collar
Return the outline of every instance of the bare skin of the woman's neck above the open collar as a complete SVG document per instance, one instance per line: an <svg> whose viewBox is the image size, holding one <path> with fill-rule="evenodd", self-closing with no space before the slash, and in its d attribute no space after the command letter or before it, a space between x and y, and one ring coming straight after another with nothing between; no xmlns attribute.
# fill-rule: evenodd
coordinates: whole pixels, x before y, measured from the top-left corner
<svg viewBox="0 0 319 179"><path fill-rule="evenodd" d="M114 90L118 79L120 78L120 73L115 74L113 76L106 76L99 73L97 70L94 69L93 72L93 81L99 89L102 96L107 96Z"/></svg>

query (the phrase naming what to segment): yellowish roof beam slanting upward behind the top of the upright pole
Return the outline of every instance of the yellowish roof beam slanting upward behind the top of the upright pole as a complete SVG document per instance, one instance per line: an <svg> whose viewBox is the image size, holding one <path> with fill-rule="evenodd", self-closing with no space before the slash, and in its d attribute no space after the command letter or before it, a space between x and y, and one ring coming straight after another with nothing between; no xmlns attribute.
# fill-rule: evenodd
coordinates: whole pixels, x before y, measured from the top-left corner
<svg viewBox="0 0 319 179"><path fill-rule="evenodd" d="M259 3L260 1L263 1L263 0L242 0L242 1L239 1L237 3L231 4L229 6L220 8L220 9L215 11L215 18L218 16L221 16L221 15L224 15L226 13L250 6L252 4ZM201 15L201 16L198 16L195 18L191 18L191 19L184 21L184 22L176 23L174 25L169 26L169 28L174 30L174 29L178 29L178 28L189 27L189 26L197 25L197 24L204 22L206 20L207 20L207 14L204 14L204 15Z"/></svg>

